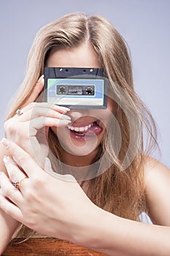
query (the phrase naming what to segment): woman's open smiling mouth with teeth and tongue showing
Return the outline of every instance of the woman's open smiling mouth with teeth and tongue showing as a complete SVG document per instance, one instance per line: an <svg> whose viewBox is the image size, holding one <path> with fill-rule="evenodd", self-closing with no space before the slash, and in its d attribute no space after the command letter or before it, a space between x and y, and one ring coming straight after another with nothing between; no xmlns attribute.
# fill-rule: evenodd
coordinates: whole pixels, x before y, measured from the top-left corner
<svg viewBox="0 0 170 256"><path fill-rule="evenodd" d="M80 137L86 138L88 137L92 137L94 135L98 135L101 132L101 127L99 126L100 121L96 120L93 123L90 124L85 124L84 126L81 127L73 127L68 125L68 129L70 130L70 134L73 136L74 138L80 139Z"/></svg>

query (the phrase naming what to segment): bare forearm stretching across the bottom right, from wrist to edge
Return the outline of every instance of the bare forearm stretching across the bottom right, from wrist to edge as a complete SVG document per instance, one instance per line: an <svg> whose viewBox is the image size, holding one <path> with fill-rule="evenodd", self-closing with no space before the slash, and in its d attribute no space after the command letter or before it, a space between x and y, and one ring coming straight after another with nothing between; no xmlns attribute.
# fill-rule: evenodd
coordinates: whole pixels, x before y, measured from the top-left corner
<svg viewBox="0 0 170 256"><path fill-rule="evenodd" d="M113 256L170 255L170 227L134 222L100 208L87 223L80 243L98 252Z"/></svg>

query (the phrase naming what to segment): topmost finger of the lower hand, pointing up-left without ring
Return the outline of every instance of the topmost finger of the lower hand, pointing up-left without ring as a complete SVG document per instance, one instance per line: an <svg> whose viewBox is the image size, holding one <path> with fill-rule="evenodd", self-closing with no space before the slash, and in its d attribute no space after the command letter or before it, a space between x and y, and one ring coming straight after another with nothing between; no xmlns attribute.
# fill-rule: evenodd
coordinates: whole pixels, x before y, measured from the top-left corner
<svg viewBox="0 0 170 256"><path fill-rule="evenodd" d="M3 138L1 142L5 148L7 148L9 154L12 155L13 159L15 159L17 165L23 168L28 177L32 176L34 178L34 176L40 176L42 174L42 168L39 167L34 159L24 151L23 148L20 148L20 146L6 138Z"/></svg>

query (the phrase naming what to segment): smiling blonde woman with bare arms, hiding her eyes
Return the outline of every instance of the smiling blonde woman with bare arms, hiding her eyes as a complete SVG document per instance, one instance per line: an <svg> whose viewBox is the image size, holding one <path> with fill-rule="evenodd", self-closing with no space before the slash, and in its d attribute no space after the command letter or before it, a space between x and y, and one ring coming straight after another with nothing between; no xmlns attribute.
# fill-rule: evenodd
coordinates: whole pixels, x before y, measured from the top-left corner
<svg viewBox="0 0 170 256"><path fill-rule="evenodd" d="M107 108L43 102L45 67L104 68ZM1 253L22 223L25 238L53 236L106 255L170 255L170 172L149 157L155 124L107 20L74 13L38 32L4 128ZM154 225L139 222L143 211Z"/></svg>

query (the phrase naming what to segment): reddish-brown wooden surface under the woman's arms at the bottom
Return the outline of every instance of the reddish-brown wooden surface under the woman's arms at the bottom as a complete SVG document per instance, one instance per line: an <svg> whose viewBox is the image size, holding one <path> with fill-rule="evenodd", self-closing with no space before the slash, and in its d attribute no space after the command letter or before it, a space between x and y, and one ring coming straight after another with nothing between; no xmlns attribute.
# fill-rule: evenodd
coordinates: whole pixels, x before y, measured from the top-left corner
<svg viewBox="0 0 170 256"><path fill-rule="evenodd" d="M16 244L20 241L23 241L23 239L17 238L15 239L15 243L9 244L3 256L104 256L100 252L94 252L83 246L56 238L30 238L28 241Z"/></svg>

